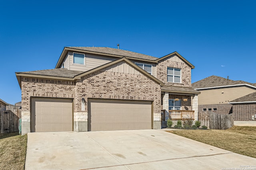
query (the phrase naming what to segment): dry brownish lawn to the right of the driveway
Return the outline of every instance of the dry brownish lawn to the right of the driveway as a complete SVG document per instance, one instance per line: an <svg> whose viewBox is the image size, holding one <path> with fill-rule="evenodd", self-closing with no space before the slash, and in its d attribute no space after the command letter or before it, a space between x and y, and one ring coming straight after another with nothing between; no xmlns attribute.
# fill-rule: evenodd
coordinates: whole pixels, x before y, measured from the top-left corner
<svg viewBox="0 0 256 170"><path fill-rule="evenodd" d="M226 130L179 130L168 132L256 158L256 127L233 126Z"/></svg>

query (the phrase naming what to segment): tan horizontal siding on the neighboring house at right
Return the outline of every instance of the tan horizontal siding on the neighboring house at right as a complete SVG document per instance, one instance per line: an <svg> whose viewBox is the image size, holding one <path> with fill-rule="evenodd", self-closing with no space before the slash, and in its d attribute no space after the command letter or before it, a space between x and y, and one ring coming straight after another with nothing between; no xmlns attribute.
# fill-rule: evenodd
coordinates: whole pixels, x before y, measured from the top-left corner
<svg viewBox="0 0 256 170"><path fill-rule="evenodd" d="M256 92L256 90L248 87L230 87L209 90L199 90L198 105L203 104L228 104L228 102L237 98L246 96Z"/></svg>

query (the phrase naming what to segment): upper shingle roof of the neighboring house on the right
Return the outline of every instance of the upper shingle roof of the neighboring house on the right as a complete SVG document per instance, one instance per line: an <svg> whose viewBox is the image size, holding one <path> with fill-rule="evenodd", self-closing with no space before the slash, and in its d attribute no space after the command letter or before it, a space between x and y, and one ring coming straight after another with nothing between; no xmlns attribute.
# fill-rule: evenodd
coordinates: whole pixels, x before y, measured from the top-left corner
<svg viewBox="0 0 256 170"><path fill-rule="evenodd" d="M218 87L218 86L230 86L230 85L239 85L239 84L249 84L255 86L253 83L245 82L242 80L230 80L227 78L222 78L219 76L210 76L202 80L194 82L191 84L192 88L209 88L209 87Z"/></svg>

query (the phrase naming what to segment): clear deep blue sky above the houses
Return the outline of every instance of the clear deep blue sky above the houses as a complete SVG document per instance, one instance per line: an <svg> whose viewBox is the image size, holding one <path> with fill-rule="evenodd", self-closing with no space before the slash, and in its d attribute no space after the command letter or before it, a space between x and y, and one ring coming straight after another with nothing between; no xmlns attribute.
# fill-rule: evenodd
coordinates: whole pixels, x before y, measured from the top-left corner
<svg viewBox="0 0 256 170"><path fill-rule="evenodd" d="M15 72L52 69L65 46L154 57L177 51L211 75L256 83L256 1L1 1L0 98L21 101Z"/></svg>

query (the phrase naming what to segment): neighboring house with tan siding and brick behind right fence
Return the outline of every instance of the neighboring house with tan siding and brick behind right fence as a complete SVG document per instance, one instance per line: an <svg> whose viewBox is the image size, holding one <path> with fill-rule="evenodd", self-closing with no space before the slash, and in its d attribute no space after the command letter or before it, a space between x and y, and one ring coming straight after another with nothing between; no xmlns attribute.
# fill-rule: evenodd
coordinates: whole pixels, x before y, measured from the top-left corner
<svg viewBox="0 0 256 170"><path fill-rule="evenodd" d="M192 83L198 95L198 111L234 115L234 125L256 125L256 84L210 76Z"/></svg>

